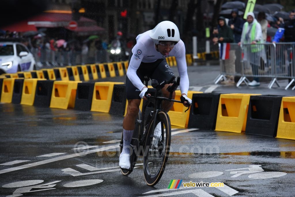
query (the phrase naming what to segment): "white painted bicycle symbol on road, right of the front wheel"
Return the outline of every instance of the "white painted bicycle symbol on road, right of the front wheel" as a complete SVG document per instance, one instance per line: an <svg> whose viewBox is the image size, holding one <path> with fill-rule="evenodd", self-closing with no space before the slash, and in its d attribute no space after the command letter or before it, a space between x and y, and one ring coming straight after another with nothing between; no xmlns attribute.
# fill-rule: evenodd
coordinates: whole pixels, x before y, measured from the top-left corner
<svg viewBox="0 0 295 197"><path fill-rule="evenodd" d="M263 168L260 167L261 165L249 165L246 168L238 168L238 169L231 169L225 170L230 171L230 174L234 174L231 178L236 178L240 175L250 174L248 178L252 179L267 179L267 178L277 178L286 175L286 172L264 172ZM223 175L224 172L220 171L208 171L208 172L197 172L194 174L189 175L190 178L210 178L210 177L217 177Z"/></svg>

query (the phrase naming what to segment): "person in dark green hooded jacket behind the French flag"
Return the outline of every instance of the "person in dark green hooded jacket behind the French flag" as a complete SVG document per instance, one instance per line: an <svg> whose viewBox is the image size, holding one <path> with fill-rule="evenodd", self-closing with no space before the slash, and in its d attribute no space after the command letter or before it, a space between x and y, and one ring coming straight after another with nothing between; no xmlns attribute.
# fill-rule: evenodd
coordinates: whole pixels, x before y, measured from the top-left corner
<svg viewBox="0 0 295 197"><path fill-rule="evenodd" d="M234 41L232 29L226 25L225 18L218 18L219 30L217 37L213 38L213 43L232 43ZM215 31L216 33L217 31ZM235 50L230 50L229 59L221 60L224 61L225 72L232 74L227 76L227 80L223 81L222 84L235 84L234 75L235 74Z"/></svg>

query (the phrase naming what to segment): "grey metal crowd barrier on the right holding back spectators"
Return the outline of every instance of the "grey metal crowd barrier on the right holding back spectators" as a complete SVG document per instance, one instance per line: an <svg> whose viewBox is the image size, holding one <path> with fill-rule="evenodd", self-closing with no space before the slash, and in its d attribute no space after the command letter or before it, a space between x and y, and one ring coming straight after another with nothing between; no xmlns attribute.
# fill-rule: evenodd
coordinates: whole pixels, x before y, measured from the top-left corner
<svg viewBox="0 0 295 197"><path fill-rule="evenodd" d="M219 48L222 49L220 44ZM240 76L236 84L239 87L242 82L248 85L248 77L268 77L272 78L268 85L271 89L275 83L280 87L278 78L283 78L290 81L285 88L288 89L295 82L294 50L295 43L258 43L241 46L230 43L230 49L223 50L223 53L228 53L228 59L220 59L221 71L214 82L217 84L221 79L226 80L232 75ZM232 65L233 62L235 66Z"/></svg>

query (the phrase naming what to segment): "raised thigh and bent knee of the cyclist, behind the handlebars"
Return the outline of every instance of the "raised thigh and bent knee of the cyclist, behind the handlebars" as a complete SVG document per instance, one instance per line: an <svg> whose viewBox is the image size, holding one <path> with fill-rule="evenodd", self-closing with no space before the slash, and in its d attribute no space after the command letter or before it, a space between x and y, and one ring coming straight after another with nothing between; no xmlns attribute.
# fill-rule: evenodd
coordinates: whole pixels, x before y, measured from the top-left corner
<svg viewBox="0 0 295 197"><path fill-rule="evenodd" d="M173 71L171 70L170 66L168 65L166 59L163 59L163 61L160 62L158 67L155 69L155 71L152 75L152 79L157 79L158 82L162 82L164 80L170 80L172 76L174 76ZM170 92L167 91L167 88L169 85L172 85L172 84L166 84L162 88L162 94L166 98L168 98L170 95ZM174 98L175 98L175 92L173 92L173 95L172 95L172 99L174 99ZM173 103L174 102L163 101L162 110L164 110L165 112L168 112L172 108Z"/></svg>

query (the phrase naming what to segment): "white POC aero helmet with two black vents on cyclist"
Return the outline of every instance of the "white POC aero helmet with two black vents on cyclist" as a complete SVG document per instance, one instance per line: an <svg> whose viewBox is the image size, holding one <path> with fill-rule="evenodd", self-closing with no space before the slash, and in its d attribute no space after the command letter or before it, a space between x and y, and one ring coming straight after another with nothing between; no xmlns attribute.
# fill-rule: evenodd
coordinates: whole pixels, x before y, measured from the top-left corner
<svg viewBox="0 0 295 197"><path fill-rule="evenodd" d="M171 21L160 22L150 31L150 38L152 38L155 44L159 44L159 41L178 42L180 40L178 28Z"/></svg>

